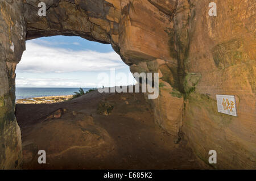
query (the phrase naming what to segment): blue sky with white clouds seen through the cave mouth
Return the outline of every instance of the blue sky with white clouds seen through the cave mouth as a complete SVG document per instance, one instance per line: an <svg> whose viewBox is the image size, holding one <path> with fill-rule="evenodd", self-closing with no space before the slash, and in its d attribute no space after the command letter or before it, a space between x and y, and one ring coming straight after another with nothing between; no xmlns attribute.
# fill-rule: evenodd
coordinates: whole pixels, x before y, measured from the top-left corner
<svg viewBox="0 0 256 181"><path fill-rule="evenodd" d="M134 83L129 66L111 45L81 37L28 40L16 68L16 87L112 87Z"/></svg>

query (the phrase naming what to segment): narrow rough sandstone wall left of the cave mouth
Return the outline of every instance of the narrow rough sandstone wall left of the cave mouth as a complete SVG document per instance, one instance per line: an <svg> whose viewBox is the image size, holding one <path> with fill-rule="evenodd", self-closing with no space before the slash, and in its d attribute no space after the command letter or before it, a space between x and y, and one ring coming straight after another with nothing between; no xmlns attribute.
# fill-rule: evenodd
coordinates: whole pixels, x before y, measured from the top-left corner
<svg viewBox="0 0 256 181"><path fill-rule="evenodd" d="M20 129L14 116L15 68L25 49L22 2L0 1L0 169L22 164Z"/></svg>

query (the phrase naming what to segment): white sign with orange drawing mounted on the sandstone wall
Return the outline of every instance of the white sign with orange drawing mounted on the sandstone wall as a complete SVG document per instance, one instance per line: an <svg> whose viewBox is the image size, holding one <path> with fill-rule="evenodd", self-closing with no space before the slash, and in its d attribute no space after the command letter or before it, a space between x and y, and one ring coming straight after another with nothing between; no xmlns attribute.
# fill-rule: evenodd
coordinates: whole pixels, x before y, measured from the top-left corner
<svg viewBox="0 0 256 181"><path fill-rule="evenodd" d="M216 95L218 112L237 116L236 100L234 95Z"/></svg>

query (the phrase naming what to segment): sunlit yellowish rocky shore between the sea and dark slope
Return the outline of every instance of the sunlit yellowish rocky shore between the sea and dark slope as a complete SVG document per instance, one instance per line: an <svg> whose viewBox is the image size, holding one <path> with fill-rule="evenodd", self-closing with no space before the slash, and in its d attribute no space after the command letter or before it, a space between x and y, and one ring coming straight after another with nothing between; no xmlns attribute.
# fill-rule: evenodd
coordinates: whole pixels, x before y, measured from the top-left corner
<svg viewBox="0 0 256 181"><path fill-rule="evenodd" d="M59 96L43 96L38 98L27 98L27 99L18 99L16 104L53 104L61 103L65 100L71 99L72 95L59 95Z"/></svg>

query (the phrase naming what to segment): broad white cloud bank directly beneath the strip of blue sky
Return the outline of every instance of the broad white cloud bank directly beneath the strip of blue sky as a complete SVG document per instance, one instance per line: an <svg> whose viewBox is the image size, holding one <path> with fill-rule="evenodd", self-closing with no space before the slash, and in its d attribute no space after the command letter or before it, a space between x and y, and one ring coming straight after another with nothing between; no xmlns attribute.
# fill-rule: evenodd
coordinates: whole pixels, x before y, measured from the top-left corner
<svg viewBox="0 0 256 181"><path fill-rule="evenodd" d="M44 74L127 68L127 65L114 51L101 53L93 50L70 50L47 47L47 45L39 45L31 41L27 41L26 49L22 60L17 65L17 72Z"/></svg>

